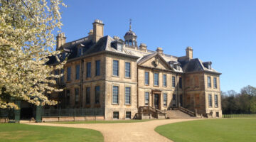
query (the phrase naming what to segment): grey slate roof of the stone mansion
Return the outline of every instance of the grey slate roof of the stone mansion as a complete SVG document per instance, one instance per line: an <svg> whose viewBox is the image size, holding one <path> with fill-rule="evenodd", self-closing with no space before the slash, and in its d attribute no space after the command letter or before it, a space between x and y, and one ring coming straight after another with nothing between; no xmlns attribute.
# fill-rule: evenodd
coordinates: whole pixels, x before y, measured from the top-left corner
<svg viewBox="0 0 256 142"><path fill-rule="evenodd" d="M92 43L92 40L90 38L85 37L81 38L79 40L75 40L69 43L65 43L61 48L65 50L68 54L66 57L68 60L73 59L73 58L78 58L78 47L82 48L82 56L86 55L91 55L93 53L100 53L102 51L109 51L110 53L118 53L120 55L129 55L131 57L137 58L137 63L138 65L141 62L145 62L146 60L149 60L150 58L154 57L156 52L154 51L148 51L144 52L141 50L136 50L124 46L123 50L117 50L112 47L112 42L114 41L113 38L111 38L109 35L106 35L100 40L98 40L97 43ZM174 68L173 66L171 67L175 72L200 72L200 71L207 71L207 72L213 72L213 73L218 73L216 70L213 68L208 69L207 67L204 67L203 63L201 60L198 58L194 58L191 60L188 60L186 56L176 58L175 56L171 55L160 55L163 60L166 61L167 64L170 65L176 65L180 66L178 68ZM63 60L62 55L59 55L60 60ZM48 65L50 64L55 64L58 63L55 59L55 57L49 57L50 60L47 62Z"/></svg>

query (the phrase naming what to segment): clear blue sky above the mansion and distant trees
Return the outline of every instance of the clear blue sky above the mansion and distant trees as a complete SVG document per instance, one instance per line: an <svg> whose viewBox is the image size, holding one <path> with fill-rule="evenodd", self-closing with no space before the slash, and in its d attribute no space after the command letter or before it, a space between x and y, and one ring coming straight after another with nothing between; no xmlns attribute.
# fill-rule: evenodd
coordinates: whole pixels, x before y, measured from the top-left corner
<svg viewBox="0 0 256 142"><path fill-rule="evenodd" d="M64 0L65 1L65 0ZM193 58L212 61L220 76L220 89L256 87L256 1L247 0L129 0L65 1L63 29L67 41L87 36L92 22L105 23L105 35L123 38L129 30L150 50L183 56L187 46Z"/></svg>

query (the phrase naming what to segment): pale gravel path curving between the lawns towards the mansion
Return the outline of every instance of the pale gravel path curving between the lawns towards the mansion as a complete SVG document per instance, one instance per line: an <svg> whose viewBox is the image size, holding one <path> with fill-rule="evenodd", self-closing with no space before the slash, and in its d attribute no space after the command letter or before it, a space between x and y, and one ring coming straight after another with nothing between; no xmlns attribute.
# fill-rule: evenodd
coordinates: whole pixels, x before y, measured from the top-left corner
<svg viewBox="0 0 256 142"><path fill-rule="evenodd" d="M159 135L154 129L156 126L171 124L181 121L191 121L195 119L166 119L166 120L154 120L137 123L120 123L120 124L48 124L48 123L33 123L33 125L41 126L65 126L82 129L94 129L100 131L105 142L156 142L156 141L170 141L168 138Z"/></svg>

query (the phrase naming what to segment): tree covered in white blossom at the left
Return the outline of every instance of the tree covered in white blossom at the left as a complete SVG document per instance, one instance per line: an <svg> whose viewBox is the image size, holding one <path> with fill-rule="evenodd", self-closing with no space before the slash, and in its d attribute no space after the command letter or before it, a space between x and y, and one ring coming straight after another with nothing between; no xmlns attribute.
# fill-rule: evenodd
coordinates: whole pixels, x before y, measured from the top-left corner
<svg viewBox="0 0 256 142"><path fill-rule="evenodd" d="M60 31L60 0L0 0L0 108L18 106L18 99L36 105L54 105L46 94L60 92L55 87L56 66L46 65L54 50L53 31Z"/></svg>

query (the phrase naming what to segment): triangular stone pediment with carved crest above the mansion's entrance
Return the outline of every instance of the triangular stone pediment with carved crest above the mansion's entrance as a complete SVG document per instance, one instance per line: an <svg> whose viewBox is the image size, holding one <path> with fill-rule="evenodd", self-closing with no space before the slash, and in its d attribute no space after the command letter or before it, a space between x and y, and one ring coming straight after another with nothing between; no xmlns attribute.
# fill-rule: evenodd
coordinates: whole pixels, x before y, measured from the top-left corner
<svg viewBox="0 0 256 142"><path fill-rule="evenodd" d="M142 59L138 65L159 70L173 70L173 68L159 54L149 55L147 58Z"/></svg>

